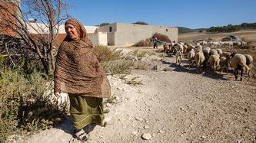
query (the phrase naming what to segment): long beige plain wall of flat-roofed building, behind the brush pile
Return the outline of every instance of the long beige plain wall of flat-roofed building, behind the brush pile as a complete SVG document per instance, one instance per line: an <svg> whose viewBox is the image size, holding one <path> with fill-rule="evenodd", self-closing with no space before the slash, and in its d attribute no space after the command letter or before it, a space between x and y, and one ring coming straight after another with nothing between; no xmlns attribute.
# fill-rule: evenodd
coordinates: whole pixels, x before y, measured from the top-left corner
<svg viewBox="0 0 256 143"><path fill-rule="evenodd" d="M167 35L171 41L178 41L178 28L157 25L115 23L115 45L133 45L155 33Z"/></svg>

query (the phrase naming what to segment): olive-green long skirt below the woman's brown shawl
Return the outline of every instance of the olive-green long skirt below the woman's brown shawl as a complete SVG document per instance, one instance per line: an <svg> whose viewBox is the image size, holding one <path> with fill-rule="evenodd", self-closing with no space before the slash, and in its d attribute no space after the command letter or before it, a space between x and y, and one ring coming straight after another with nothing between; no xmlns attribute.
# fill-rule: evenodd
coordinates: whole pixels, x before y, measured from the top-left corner
<svg viewBox="0 0 256 143"><path fill-rule="evenodd" d="M70 99L70 115L74 128L84 128L90 123L103 125L103 99L97 97L68 94Z"/></svg>

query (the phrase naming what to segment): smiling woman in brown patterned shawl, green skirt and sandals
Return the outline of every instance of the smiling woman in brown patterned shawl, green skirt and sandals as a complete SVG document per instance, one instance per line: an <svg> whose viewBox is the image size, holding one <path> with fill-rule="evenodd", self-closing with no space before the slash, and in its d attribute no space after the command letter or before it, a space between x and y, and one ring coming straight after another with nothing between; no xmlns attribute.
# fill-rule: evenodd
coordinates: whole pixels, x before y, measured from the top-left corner
<svg viewBox="0 0 256 143"><path fill-rule="evenodd" d="M86 141L83 128L103 125L102 98L110 96L110 85L83 24L75 18L68 19L65 31L67 36L56 58L55 96L68 93L74 134Z"/></svg>

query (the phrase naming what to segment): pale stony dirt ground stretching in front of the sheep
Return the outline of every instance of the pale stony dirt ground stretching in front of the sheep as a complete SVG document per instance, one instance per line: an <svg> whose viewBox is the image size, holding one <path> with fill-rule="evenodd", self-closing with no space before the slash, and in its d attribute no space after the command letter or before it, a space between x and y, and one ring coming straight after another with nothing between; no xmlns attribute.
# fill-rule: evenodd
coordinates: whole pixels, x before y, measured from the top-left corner
<svg viewBox="0 0 256 143"><path fill-rule="evenodd" d="M196 73L175 57L139 62L147 68L108 76L115 97L105 107L108 125L96 126L88 142L256 142L256 86L247 76L240 82L231 73ZM134 77L143 84L128 84ZM71 133L67 118L15 142L79 142Z"/></svg>

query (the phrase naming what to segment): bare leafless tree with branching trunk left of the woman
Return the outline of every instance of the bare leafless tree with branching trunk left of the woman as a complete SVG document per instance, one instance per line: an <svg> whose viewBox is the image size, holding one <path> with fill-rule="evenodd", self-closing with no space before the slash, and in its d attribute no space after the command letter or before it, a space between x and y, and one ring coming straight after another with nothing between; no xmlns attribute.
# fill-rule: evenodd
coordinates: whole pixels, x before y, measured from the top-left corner
<svg viewBox="0 0 256 143"><path fill-rule="evenodd" d="M53 73L53 43L60 24L68 18L67 9L68 5L62 0L0 0L0 29L12 31L22 38L42 61L45 73ZM30 18L38 23L28 22Z"/></svg>

